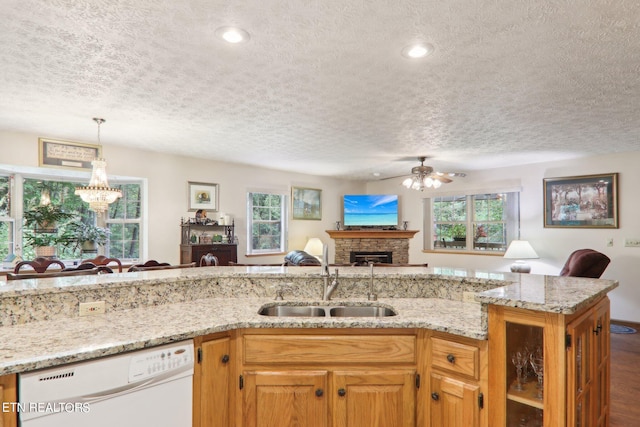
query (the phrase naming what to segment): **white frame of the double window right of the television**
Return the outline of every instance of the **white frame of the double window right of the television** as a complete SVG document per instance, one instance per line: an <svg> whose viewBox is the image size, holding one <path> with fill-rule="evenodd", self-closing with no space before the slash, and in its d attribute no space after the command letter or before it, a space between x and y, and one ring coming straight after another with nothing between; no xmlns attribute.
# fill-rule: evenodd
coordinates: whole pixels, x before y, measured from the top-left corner
<svg viewBox="0 0 640 427"><path fill-rule="evenodd" d="M492 220L479 220L476 218L475 201L479 196L489 196L484 198L492 198L499 195L507 195L507 200L504 207L504 219L501 221ZM435 201L440 198L460 198L466 201L466 219L464 221L436 221L434 205ZM455 194L434 194L433 197L424 199L424 244L423 248L430 252L448 253L448 254L480 254L480 255L497 255L502 256L506 252L509 243L512 240L516 240L520 235L520 190L489 190L489 191L475 191L469 194L455 193ZM466 232L466 238L464 242L458 242L451 247L436 246L436 232L435 227L437 224L464 224L466 230L474 230L469 233ZM477 246L475 242L475 230L478 224L504 224L505 242L501 242L500 248L491 249L489 245L485 247ZM447 242L445 242L447 243Z"/></svg>

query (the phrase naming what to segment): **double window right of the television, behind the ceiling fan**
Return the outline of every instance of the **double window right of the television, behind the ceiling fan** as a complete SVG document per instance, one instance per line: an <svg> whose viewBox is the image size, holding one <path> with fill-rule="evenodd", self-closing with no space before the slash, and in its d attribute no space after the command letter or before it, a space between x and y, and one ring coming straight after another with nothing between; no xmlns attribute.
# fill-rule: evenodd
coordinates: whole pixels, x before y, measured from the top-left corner
<svg viewBox="0 0 640 427"><path fill-rule="evenodd" d="M520 229L520 193L442 196L427 212L429 249L504 252Z"/></svg>

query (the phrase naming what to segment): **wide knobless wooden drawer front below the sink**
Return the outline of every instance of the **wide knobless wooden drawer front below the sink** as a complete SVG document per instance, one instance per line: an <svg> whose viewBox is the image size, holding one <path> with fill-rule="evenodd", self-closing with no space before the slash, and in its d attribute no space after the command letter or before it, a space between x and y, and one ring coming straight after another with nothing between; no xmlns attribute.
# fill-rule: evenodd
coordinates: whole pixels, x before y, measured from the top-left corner
<svg viewBox="0 0 640 427"><path fill-rule="evenodd" d="M245 363L410 363L413 335L245 335Z"/></svg>

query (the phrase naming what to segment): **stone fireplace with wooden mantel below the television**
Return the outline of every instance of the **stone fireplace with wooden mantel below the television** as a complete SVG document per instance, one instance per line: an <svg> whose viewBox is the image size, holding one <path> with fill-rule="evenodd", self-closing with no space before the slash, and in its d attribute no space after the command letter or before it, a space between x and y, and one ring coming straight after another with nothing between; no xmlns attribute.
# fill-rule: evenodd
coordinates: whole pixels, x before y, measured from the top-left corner
<svg viewBox="0 0 640 427"><path fill-rule="evenodd" d="M417 230L327 230L329 236L335 240L335 263L349 264L352 252L389 254L389 261L395 264L409 263L409 239ZM368 261L367 261L368 262ZM366 262L365 262L366 264Z"/></svg>

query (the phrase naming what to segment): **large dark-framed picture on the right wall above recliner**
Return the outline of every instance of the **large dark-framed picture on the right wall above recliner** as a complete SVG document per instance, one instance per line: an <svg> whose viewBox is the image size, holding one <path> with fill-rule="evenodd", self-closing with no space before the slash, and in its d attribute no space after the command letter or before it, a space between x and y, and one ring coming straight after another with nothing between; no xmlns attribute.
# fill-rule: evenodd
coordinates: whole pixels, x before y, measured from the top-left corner
<svg viewBox="0 0 640 427"><path fill-rule="evenodd" d="M618 174L545 178L544 226L618 228Z"/></svg>

